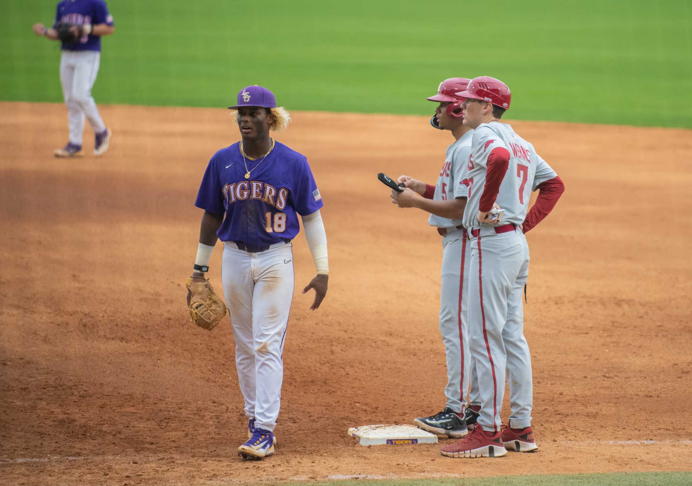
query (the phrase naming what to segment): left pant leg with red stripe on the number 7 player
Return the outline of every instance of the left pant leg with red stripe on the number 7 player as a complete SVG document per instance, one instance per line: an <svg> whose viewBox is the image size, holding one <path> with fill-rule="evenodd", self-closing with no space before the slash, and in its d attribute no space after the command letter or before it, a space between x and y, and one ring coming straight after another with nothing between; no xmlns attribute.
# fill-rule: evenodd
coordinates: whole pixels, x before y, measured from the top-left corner
<svg viewBox="0 0 692 486"><path fill-rule="evenodd" d="M507 361L502 332L507 321L507 303L525 259L519 231L471 241L468 327L480 386L478 423L486 431L499 431L502 424Z"/></svg>

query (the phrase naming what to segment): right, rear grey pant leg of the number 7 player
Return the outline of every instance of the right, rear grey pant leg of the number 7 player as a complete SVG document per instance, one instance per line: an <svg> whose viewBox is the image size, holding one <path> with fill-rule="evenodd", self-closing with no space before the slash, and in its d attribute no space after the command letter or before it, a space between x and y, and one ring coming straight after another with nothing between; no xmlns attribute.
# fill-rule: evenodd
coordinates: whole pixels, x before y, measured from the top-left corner
<svg viewBox="0 0 692 486"><path fill-rule="evenodd" d="M531 376L531 353L524 337L524 306L522 291L529 277L529 245L520 234L524 245L524 262L507 301L507 324L502 330L507 351L507 384L511 413L509 424L513 429L531 427L531 409L534 404L534 386Z"/></svg>

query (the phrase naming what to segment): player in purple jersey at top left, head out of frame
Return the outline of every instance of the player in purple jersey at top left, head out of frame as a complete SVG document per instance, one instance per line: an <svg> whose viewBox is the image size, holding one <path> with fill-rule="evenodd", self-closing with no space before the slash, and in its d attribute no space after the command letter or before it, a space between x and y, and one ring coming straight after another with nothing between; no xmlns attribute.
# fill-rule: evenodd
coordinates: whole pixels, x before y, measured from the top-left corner
<svg viewBox="0 0 692 486"><path fill-rule="evenodd" d="M59 40L58 30L71 30L74 41L62 41L60 60L60 83L67 105L70 139L62 149L55 150L56 157L80 157L84 118L95 133L93 153L102 155L111 138L96 103L91 97L91 88L98 74L101 56L101 36L111 35L115 27L103 0L62 0L57 4L52 28L34 24L33 31L53 41Z"/></svg>

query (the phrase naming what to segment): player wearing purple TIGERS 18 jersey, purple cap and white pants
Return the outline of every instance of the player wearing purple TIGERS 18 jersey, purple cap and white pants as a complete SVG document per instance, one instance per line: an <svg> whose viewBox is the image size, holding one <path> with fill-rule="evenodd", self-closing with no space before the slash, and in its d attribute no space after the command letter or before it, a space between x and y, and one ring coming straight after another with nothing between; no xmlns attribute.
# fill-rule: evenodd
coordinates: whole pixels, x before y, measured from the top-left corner
<svg viewBox="0 0 692 486"><path fill-rule="evenodd" d="M298 215L317 268L303 290L315 290L312 310L327 294L327 236L307 159L269 136L291 120L273 93L247 86L228 108L237 111L242 140L217 151L202 178L194 204L204 215L192 277L204 279L217 239L224 242L221 280L250 436L238 454L260 459L274 454Z"/></svg>

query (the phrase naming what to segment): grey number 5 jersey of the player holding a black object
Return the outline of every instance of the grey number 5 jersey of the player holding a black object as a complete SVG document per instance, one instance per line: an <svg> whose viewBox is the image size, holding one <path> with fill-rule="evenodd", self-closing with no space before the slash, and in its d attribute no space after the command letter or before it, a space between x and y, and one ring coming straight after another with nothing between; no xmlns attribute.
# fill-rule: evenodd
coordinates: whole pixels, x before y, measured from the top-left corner
<svg viewBox="0 0 692 486"><path fill-rule="evenodd" d="M465 198L468 195L468 187L464 184L464 179L466 179L468 156L471 154L472 135L473 130L469 130L459 140L447 147L445 162L437 178L435 196L432 199L451 200L459 197ZM462 221L459 219L441 218L435 214L430 214L428 224L444 228L459 226L462 224Z"/></svg>

